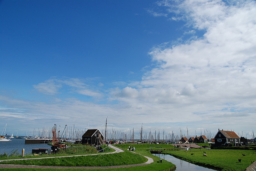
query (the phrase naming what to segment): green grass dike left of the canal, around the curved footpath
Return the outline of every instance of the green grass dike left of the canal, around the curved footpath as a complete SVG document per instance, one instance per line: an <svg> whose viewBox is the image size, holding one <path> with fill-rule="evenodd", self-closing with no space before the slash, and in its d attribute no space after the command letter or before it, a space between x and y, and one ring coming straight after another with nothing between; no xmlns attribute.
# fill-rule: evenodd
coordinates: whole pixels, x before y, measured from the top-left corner
<svg viewBox="0 0 256 171"><path fill-rule="evenodd" d="M134 144L132 147L135 147L135 152L138 154L134 154L132 152L127 151L128 146L132 144L122 144L116 145L117 147L123 149L125 152L117 153L117 154L105 154L105 155L96 155L96 156L81 156L81 157L69 157L69 158L54 158L54 159L37 159L37 160L19 160L19 161L4 161L0 164L22 164L22 165L46 165L46 166L115 166L115 165L127 165L127 164L138 164L144 163L147 161L141 155L148 156L154 159L154 162L144 166L135 166L128 168L115 168L115 169L104 169L109 171L167 171L170 168L175 167L174 164L163 160L160 163L160 158L151 155L149 152L150 146L166 146L169 148L173 148L170 145L154 145L154 144ZM141 155L139 155L141 154ZM26 170L26 171L45 171L46 169L1 169L1 170ZM48 170L56 170L56 169L47 169ZM70 169L58 169L58 171L68 171ZM87 169L72 169L72 170L87 170ZM102 170L102 169L90 169L92 171Z"/></svg>

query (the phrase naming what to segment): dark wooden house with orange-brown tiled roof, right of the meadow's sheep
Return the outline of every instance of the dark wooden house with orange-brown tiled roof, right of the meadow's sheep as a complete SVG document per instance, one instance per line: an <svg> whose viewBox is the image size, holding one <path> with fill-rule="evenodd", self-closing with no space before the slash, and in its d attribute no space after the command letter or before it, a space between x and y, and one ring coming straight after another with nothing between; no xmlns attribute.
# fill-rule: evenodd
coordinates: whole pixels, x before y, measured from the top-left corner
<svg viewBox="0 0 256 171"><path fill-rule="evenodd" d="M234 131L218 130L214 139L215 145L229 146L230 143L233 143L235 146L239 146L241 144L240 137Z"/></svg>

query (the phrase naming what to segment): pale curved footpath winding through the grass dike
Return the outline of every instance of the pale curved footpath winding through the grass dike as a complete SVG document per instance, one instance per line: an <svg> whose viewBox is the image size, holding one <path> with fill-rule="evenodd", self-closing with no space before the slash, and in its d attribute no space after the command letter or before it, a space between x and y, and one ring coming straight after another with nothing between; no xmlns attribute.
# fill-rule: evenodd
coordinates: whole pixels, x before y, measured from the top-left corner
<svg viewBox="0 0 256 171"><path fill-rule="evenodd" d="M31 159L49 159L49 158L63 158L63 157L77 157L77 156L92 156L92 155L104 155L104 154L113 154L113 153L120 153L123 152L123 150L114 147L110 145L109 147L113 148L114 152L111 153L103 153L103 154L87 154L87 155L74 155L74 156L58 156L58 157L44 157L44 158L31 158ZM120 165L120 166L84 166L84 167L65 167L65 166L35 166L35 165L14 165L14 164L0 164L0 168L41 168L41 169L112 169L112 168L120 168L120 167L133 167L133 166L142 166L142 165L147 165L154 160L152 158L149 158L147 156L144 156L145 158L148 159L147 162L145 163L140 163L140 164L129 164L129 165ZM0 160L1 161L10 161L10 160L31 160L31 159L8 159L8 160Z"/></svg>

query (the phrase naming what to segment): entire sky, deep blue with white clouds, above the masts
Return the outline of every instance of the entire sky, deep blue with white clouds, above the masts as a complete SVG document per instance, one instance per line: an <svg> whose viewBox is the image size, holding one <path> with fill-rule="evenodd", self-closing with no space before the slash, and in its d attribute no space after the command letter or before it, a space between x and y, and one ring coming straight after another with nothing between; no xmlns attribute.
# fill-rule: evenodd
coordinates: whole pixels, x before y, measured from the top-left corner
<svg viewBox="0 0 256 171"><path fill-rule="evenodd" d="M255 1L0 1L0 131L251 137ZM203 132L202 131L202 132Z"/></svg>

